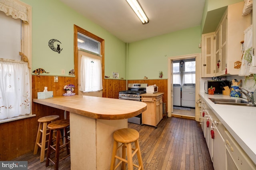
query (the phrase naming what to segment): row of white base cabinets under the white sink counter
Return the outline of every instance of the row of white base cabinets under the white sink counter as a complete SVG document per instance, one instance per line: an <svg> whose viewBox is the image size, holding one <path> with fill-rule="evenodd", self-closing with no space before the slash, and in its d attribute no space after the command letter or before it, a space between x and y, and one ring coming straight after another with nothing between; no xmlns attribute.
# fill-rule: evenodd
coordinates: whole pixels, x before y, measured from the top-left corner
<svg viewBox="0 0 256 170"><path fill-rule="evenodd" d="M256 165L226 130L214 111L200 98L200 122L214 170L256 170ZM209 121L209 127L207 127ZM211 130L214 132L212 138Z"/></svg>

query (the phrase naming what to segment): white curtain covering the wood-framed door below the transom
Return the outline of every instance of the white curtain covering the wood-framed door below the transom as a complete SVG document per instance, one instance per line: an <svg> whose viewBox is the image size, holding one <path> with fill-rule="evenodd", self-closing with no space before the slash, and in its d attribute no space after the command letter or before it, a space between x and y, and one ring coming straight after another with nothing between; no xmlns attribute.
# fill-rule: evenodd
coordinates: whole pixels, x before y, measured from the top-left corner
<svg viewBox="0 0 256 170"><path fill-rule="evenodd" d="M80 68L80 91L102 90L101 61L82 55Z"/></svg>

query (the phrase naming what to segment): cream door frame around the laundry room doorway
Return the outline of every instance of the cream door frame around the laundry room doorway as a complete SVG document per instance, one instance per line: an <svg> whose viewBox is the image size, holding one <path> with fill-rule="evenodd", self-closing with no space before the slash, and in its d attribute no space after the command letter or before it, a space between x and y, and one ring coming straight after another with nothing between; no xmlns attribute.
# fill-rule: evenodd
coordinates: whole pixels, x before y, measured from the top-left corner
<svg viewBox="0 0 256 170"><path fill-rule="evenodd" d="M179 56L174 56L174 57L168 57L168 83L167 83L167 104L168 104L168 117L172 117L172 111L173 111L173 106L172 106L172 61L173 60L178 60L178 59L190 59L190 58L195 58L196 59L196 100L199 99L199 91L200 91L200 53L195 53L195 54L188 54L188 55L179 55ZM197 79L198 78L198 79ZM199 107L196 105L195 107L195 119L196 121L199 121L200 114L199 114Z"/></svg>

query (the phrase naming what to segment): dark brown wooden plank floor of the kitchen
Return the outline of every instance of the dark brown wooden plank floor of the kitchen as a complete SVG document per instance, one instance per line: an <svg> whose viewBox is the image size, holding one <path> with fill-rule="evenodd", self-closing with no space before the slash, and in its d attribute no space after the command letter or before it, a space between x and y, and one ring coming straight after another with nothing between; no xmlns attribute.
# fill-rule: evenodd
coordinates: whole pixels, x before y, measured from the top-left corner
<svg viewBox="0 0 256 170"><path fill-rule="evenodd" d="M144 170L214 169L200 124L194 120L169 117L160 121L158 128L133 123L128 123L128 127L140 133ZM39 158L39 152L37 155L31 152L15 160L28 161L29 170L54 169L51 163L46 168L45 161L40 163ZM136 156L134 162L137 164ZM70 158L60 162L59 169L69 170Z"/></svg>

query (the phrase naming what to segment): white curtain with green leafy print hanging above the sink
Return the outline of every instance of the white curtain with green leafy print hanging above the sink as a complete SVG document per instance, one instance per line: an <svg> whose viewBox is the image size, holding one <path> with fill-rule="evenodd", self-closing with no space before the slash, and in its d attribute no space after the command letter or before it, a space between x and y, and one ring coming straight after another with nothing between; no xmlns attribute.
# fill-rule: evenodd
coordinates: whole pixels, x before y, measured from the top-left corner
<svg viewBox="0 0 256 170"><path fill-rule="evenodd" d="M252 62L252 25L244 30L244 54L239 76L249 76Z"/></svg>

